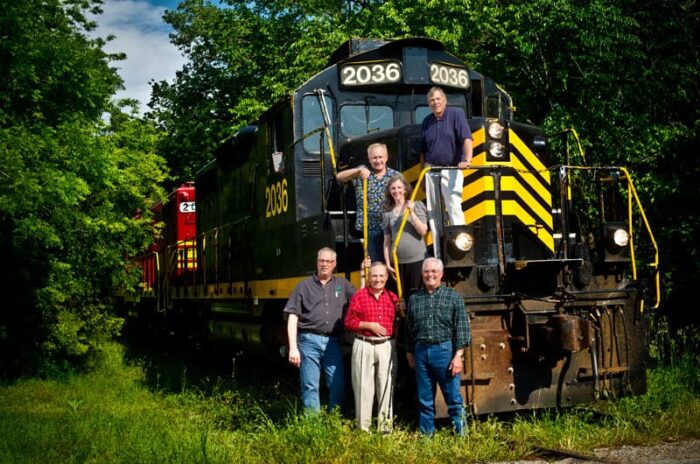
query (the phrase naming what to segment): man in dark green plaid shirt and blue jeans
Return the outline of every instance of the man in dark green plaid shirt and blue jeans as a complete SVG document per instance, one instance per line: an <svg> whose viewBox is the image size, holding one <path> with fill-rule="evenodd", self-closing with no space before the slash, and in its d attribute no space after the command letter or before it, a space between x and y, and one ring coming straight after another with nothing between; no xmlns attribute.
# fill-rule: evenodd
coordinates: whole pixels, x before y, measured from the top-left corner
<svg viewBox="0 0 700 464"><path fill-rule="evenodd" d="M464 300L442 285L443 264L437 258L423 262L425 288L413 294L406 316L406 358L416 370L418 428L435 432L435 385L447 404L455 433L464 433L464 403L460 393L464 347L471 341Z"/></svg>

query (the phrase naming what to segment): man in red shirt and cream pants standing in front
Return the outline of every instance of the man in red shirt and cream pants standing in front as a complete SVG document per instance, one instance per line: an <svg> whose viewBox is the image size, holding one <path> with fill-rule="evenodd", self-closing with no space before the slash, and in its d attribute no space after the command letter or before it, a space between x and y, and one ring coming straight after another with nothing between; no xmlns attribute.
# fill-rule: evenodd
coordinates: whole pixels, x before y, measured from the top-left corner
<svg viewBox="0 0 700 464"><path fill-rule="evenodd" d="M389 277L385 264L369 268L369 286L355 293L345 315L345 327L354 332L352 388L357 427L369 432L372 407L377 398L377 428L388 433L394 417L396 379L396 305L399 297L384 288Z"/></svg>

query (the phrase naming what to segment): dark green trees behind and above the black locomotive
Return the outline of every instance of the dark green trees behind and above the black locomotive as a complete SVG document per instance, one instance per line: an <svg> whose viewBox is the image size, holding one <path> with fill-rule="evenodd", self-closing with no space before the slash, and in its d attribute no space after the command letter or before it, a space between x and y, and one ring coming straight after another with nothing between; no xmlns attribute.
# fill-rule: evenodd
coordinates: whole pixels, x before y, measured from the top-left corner
<svg viewBox="0 0 700 464"><path fill-rule="evenodd" d="M166 15L190 60L173 83L154 86L152 102L176 177L191 179L220 141L322 69L348 37L432 37L504 86L516 118L544 127L554 153L563 151L561 131L574 127L588 164L632 169L661 244L666 307L680 312L690 300L700 278L691 238L699 169L691 153L700 142L695 2L224 3L186 0Z"/></svg>

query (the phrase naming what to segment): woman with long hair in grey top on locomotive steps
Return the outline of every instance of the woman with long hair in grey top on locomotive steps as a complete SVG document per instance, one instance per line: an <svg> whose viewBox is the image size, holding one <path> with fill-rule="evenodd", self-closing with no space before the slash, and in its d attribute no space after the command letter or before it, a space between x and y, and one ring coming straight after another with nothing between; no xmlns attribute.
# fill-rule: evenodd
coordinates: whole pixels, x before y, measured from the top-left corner
<svg viewBox="0 0 700 464"><path fill-rule="evenodd" d="M423 237L428 231L428 212L425 205L420 201L410 201L410 197L411 184L406 182L401 174L389 179L386 188L386 206L382 215L384 259L389 272L396 277L391 248L399 233L404 211L408 209L408 219L401 234L399 247L396 250L399 259L402 296L406 301L411 293L421 285L421 267L427 256Z"/></svg>

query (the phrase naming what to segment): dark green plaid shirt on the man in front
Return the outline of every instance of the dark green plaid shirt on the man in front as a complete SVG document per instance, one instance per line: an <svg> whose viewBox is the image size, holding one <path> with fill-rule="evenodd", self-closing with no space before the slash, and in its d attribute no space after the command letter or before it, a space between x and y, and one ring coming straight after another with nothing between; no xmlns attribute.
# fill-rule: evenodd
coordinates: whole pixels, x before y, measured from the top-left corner
<svg viewBox="0 0 700 464"><path fill-rule="evenodd" d="M464 300L452 288L440 285L428 293L421 288L411 297L406 316L406 351L413 353L417 341L452 341L455 350L469 345L471 329Z"/></svg>

